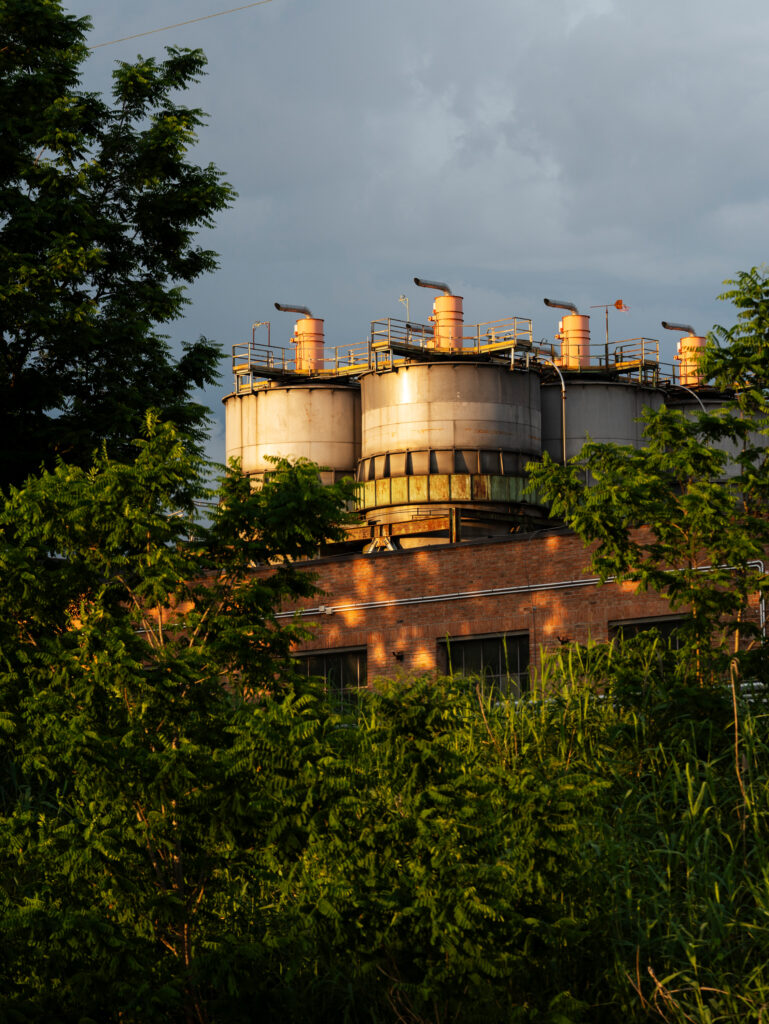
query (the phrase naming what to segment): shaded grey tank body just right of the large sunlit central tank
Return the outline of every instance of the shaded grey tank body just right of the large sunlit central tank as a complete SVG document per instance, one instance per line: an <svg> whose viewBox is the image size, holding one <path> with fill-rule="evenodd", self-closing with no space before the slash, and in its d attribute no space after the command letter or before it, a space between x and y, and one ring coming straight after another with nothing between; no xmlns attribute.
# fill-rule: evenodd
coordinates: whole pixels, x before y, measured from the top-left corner
<svg viewBox="0 0 769 1024"><path fill-rule="evenodd" d="M566 458L576 455L588 440L614 444L643 444L644 409L658 409L664 400L658 388L642 384L600 380L566 380ZM562 461L562 402L560 382L542 386L542 446L556 462Z"/></svg>

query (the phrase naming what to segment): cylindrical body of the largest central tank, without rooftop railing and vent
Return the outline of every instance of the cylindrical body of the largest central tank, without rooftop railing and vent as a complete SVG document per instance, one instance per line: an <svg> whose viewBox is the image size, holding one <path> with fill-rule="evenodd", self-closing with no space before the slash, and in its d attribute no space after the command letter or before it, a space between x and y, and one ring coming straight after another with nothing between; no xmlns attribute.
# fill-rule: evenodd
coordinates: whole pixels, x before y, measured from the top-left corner
<svg viewBox="0 0 769 1024"><path fill-rule="evenodd" d="M370 522L527 504L540 379L506 365L405 362L360 380L360 507Z"/></svg>

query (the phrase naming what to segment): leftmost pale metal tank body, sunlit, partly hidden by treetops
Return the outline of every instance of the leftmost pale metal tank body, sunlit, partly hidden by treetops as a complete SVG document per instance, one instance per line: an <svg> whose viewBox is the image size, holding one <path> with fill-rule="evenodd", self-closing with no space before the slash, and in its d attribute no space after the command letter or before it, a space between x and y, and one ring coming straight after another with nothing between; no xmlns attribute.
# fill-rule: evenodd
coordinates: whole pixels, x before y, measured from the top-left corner
<svg viewBox="0 0 769 1024"><path fill-rule="evenodd" d="M309 459L325 483L352 476L360 456L360 393L326 383L265 384L224 399L227 459L249 476L272 469L267 456Z"/></svg>

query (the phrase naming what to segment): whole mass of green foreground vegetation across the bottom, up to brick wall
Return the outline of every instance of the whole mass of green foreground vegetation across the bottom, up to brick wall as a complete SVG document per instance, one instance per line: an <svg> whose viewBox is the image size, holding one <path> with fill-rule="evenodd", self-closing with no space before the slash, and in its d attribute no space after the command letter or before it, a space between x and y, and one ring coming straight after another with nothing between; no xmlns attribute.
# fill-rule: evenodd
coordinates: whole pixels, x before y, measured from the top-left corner
<svg viewBox="0 0 769 1024"><path fill-rule="evenodd" d="M236 469L202 524L200 469L149 418L4 500L0 1020L762 1020L762 703L739 781L653 637L339 714L275 613L349 487Z"/></svg>

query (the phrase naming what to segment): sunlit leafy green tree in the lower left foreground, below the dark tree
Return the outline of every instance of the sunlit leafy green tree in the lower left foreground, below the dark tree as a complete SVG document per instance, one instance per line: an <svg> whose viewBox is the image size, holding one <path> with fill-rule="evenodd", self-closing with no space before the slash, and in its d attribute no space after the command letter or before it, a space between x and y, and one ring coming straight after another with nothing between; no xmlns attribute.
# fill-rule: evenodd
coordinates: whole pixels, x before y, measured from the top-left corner
<svg viewBox="0 0 769 1024"><path fill-rule="evenodd" d="M275 613L348 488L232 471L203 526L200 469L151 419L133 463L59 463L0 511L2 1019L205 1021L244 949L268 984L254 847L317 727Z"/></svg>

